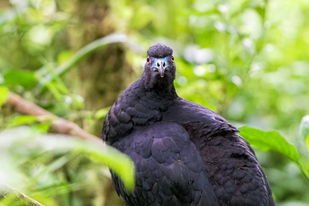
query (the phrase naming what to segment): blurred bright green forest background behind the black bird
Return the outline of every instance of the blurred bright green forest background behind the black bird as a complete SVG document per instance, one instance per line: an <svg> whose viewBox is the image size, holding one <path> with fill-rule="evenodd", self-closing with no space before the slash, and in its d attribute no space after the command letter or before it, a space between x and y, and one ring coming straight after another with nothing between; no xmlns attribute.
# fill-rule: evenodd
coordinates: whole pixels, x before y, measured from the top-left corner
<svg viewBox="0 0 309 206"><path fill-rule="evenodd" d="M100 136L108 107L142 73L146 50L161 42L174 49L179 96L236 126L279 131L306 170L309 140L299 125L309 114L308 12L307 0L2 0L0 103L9 89ZM115 40L124 43L104 43L113 33L125 34ZM48 128L6 105L0 114L2 130L21 123ZM281 148L272 143L270 149ZM277 205L308 205L302 170L277 152L254 149ZM40 171L40 161L53 165L61 158L54 155L24 160L25 171ZM123 204L107 168L84 154L69 156L49 184L33 183L32 198L47 198L47 205Z"/></svg>

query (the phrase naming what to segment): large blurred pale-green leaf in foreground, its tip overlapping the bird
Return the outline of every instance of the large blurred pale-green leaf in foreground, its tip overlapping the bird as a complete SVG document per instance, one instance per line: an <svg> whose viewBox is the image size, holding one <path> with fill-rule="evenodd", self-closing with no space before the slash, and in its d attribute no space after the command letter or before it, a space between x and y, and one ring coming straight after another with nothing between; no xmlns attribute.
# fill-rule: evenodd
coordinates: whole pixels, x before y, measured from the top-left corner
<svg viewBox="0 0 309 206"><path fill-rule="evenodd" d="M40 155L47 151L59 155L68 152L86 153L91 159L108 165L122 179L127 191L132 191L135 186L135 172L129 156L104 145L103 142L102 144L95 144L87 140L65 135L42 135L28 127L19 127L0 133L0 151L2 151L1 156L4 158L0 159L1 165L6 162L5 157L27 158L31 157L33 153ZM12 175L9 170L2 172L4 172L3 180L6 179L6 175Z"/></svg>

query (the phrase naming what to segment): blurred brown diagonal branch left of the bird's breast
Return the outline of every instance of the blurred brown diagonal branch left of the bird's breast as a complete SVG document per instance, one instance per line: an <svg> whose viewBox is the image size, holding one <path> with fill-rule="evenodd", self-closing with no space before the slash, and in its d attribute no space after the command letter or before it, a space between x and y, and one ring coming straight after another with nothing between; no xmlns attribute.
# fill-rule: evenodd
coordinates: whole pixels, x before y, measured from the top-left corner
<svg viewBox="0 0 309 206"><path fill-rule="evenodd" d="M27 100L23 99L21 96L13 92L9 93L5 104L10 105L11 107L13 107L15 111L23 115L53 117L55 120L52 121L50 126L50 129L53 132L75 136L81 139L93 141L96 144L103 145L103 141L100 138L86 132L85 130L80 128L77 124L62 119L54 115L53 113L43 109L42 107L39 107L34 103L28 102Z"/></svg>

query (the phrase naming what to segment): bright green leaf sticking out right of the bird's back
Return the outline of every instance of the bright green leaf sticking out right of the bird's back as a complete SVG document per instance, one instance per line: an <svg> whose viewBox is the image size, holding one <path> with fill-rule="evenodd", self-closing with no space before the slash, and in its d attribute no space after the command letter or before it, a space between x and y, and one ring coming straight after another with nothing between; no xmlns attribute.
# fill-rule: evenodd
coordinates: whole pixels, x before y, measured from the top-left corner
<svg viewBox="0 0 309 206"><path fill-rule="evenodd" d="M293 162L298 162L299 154L294 145L289 144L279 132L265 132L256 128L241 127L239 128L240 135L245 138L250 144L256 145L262 150L274 150Z"/></svg>

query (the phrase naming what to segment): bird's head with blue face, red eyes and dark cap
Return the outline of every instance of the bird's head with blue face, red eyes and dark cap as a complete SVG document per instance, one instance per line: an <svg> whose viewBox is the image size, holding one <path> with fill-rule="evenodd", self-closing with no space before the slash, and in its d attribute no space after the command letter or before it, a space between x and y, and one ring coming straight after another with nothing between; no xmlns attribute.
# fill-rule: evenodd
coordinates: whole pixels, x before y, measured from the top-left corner
<svg viewBox="0 0 309 206"><path fill-rule="evenodd" d="M155 44L147 51L143 73L145 83L150 88L165 87L173 84L176 77L176 65L173 50L165 44Z"/></svg>

